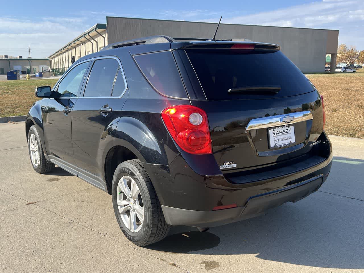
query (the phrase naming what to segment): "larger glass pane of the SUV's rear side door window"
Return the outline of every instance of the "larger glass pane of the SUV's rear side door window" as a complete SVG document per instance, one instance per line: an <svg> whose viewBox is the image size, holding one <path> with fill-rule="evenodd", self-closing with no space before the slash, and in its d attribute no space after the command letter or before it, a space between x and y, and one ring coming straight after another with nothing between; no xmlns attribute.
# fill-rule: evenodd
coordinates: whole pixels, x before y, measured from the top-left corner
<svg viewBox="0 0 364 273"><path fill-rule="evenodd" d="M85 97L111 96L119 63L115 59L95 60L86 84Z"/></svg>

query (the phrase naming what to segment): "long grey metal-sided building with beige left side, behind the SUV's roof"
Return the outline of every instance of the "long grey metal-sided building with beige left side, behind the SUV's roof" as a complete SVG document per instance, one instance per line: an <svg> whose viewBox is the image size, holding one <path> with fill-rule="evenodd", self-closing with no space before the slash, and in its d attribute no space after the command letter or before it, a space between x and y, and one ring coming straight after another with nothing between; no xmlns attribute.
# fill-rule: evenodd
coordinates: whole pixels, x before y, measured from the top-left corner
<svg viewBox="0 0 364 273"><path fill-rule="evenodd" d="M49 58L52 68L66 70L73 59L78 60L87 54L97 52L107 44L152 35L210 38L215 32L216 25L216 23L189 21L106 17L106 24L94 25ZM324 72L327 54L331 54L331 67L336 66L339 30L220 24L216 36L216 39L243 38L280 45L282 52L302 72Z"/></svg>

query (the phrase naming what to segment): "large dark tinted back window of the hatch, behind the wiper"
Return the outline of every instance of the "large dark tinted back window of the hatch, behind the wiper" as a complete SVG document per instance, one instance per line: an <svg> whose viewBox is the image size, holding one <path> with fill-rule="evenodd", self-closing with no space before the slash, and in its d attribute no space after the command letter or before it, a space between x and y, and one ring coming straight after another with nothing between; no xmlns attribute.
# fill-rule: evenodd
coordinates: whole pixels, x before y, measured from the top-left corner
<svg viewBox="0 0 364 273"><path fill-rule="evenodd" d="M256 99L293 96L315 88L281 51L186 50L206 98L209 100ZM229 89L280 87L231 92Z"/></svg>

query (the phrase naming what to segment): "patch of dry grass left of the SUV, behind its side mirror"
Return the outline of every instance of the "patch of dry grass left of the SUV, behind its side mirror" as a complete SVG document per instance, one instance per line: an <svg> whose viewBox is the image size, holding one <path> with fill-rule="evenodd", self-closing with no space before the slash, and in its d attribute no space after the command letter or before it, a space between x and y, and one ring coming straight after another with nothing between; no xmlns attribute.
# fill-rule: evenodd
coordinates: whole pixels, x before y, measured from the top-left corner
<svg viewBox="0 0 364 273"><path fill-rule="evenodd" d="M58 79L9 80L0 82L0 117L27 115L33 103L40 98L34 95L37 86L50 85Z"/></svg>

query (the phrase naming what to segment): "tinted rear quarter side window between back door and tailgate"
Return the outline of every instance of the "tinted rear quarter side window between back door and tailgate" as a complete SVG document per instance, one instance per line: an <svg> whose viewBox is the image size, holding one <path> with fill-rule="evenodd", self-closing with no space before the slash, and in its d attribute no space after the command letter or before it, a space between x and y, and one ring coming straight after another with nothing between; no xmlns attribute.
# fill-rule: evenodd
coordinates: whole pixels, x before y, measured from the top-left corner
<svg viewBox="0 0 364 273"><path fill-rule="evenodd" d="M135 55L134 59L146 79L159 93L175 98L187 98L171 51Z"/></svg>

